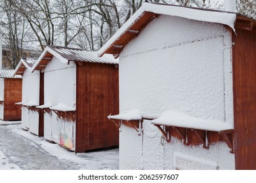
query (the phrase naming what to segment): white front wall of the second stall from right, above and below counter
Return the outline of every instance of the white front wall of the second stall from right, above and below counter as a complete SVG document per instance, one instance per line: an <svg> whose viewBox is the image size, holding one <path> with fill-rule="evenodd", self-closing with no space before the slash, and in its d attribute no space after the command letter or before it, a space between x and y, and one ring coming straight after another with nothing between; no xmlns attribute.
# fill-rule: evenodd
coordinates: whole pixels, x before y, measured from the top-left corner
<svg viewBox="0 0 256 183"><path fill-rule="evenodd" d="M51 103L53 106L58 105L58 103L64 103L70 107L75 107L76 67L73 61L67 65L58 58L53 57L45 67L44 82L45 103ZM73 132L71 133L69 122L58 119L54 112L52 112L51 116L45 114L45 125L45 138L49 141L60 143L60 135L65 132L69 135L68 139L74 139L72 135L75 134L75 125L72 125Z"/></svg>

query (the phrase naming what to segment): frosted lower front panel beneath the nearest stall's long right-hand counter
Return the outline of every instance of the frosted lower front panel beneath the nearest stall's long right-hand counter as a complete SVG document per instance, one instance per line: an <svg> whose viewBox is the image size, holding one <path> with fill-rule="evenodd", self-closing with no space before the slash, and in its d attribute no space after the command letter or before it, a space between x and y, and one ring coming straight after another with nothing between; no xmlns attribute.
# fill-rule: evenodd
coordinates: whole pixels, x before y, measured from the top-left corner
<svg viewBox="0 0 256 183"><path fill-rule="evenodd" d="M173 137L164 148L165 169L235 169L234 154L225 142L211 144L207 150L203 146L185 146Z"/></svg>

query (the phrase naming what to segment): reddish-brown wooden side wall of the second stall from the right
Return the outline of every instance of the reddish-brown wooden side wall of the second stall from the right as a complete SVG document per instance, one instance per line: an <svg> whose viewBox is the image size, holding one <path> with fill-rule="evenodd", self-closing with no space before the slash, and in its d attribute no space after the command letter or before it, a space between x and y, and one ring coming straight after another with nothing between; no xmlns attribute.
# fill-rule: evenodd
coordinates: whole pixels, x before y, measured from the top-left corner
<svg viewBox="0 0 256 183"><path fill-rule="evenodd" d="M118 68L102 63L77 64L75 152L117 146L119 130L107 116L119 112ZM114 106L116 107L114 108Z"/></svg>

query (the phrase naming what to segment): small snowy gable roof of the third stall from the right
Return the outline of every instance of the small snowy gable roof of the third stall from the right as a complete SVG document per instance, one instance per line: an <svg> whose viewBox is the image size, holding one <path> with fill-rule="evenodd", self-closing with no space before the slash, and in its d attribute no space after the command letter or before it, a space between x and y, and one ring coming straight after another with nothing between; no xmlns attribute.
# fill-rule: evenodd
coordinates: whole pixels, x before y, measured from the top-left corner
<svg viewBox="0 0 256 183"><path fill-rule="evenodd" d="M23 75L26 69L32 71L32 67L35 64L35 61L37 61L37 59L34 58L20 59L20 62L18 63L16 69L14 70L13 75Z"/></svg>

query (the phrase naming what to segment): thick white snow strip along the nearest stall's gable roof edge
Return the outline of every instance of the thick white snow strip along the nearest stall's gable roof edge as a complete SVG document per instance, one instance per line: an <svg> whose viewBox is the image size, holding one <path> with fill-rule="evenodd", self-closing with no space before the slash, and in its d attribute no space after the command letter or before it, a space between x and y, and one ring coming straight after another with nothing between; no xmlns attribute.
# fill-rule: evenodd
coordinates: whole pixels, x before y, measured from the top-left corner
<svg viewBox="0 0 256 183"><path fill-rule="evenodd" d="M100 50L98 50L98 56L101 56L110 46L117 40L125 31L127 31L137 19L144 14L144 12L154 12L156 14L163 14L167 16L176 16L181 18L187 18L188 20L198 20L202 22L211 22L228 25L235 31L234 22L236 21L236 14L230 12L217 12L211 10L198 10L187 7L177 7L168 5L156 5L151 3L143 3L143 5L123 24L123 26L110 38ZM158 27L161 29L163 27Z"/></svg>

